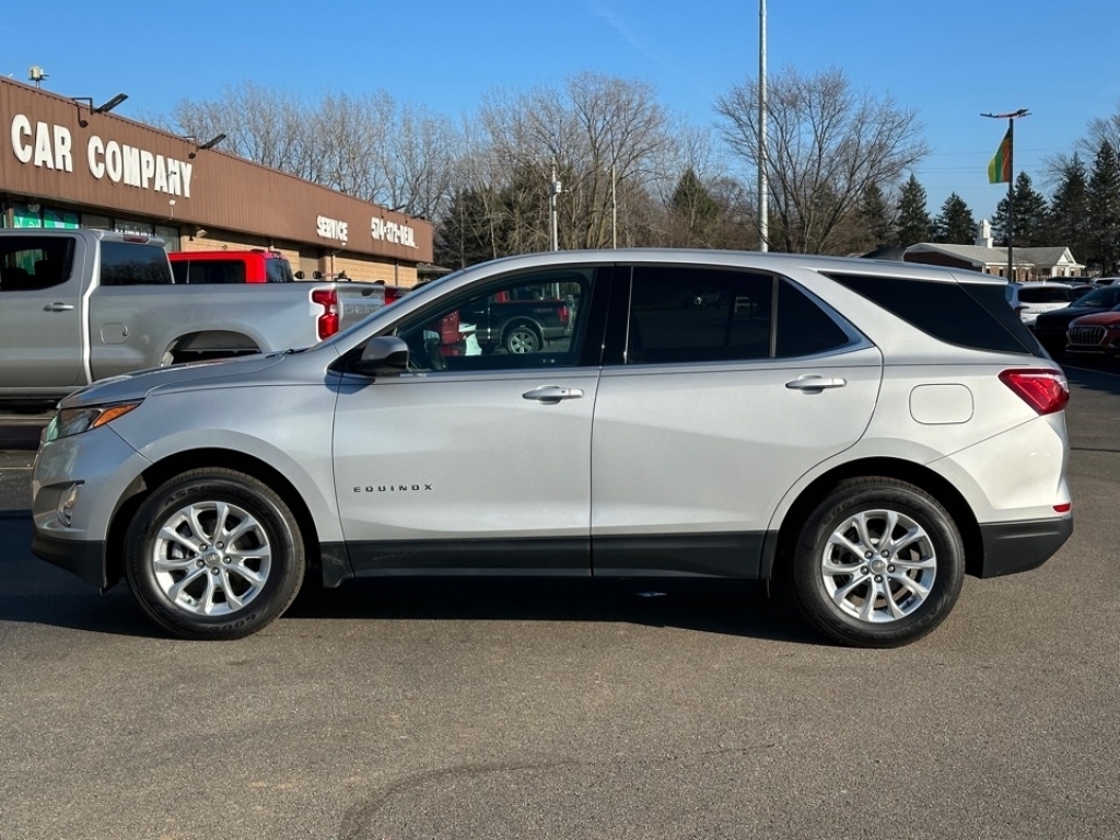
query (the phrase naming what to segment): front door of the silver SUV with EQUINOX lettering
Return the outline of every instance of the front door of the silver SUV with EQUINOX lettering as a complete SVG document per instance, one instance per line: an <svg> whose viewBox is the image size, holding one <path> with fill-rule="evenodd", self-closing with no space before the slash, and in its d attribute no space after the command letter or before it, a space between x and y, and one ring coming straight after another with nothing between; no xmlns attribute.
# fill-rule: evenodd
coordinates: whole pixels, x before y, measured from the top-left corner
<svg viewBox="0 0 1120 840"><path fill-rule="evenodd" d="M570 271L590 302L609 269ZM333 444L342 528L357 575L385 571L588 575L591 310L562 348L483 352L464 314L539 282L516 274L402 317L410 370L344 376ZM454 327L454 328L452 328ZM466 330L466 332L460 332Z"/></svg>

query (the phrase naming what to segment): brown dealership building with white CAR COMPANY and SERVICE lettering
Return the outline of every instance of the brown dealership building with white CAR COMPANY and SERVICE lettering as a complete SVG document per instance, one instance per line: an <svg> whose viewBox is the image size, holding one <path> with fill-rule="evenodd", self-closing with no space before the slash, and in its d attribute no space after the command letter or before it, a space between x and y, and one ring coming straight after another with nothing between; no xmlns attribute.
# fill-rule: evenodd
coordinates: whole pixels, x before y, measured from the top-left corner
<svg viewBox="0 0 1120 840"><path fill-rule="evenodd" d="M268 249L307 278L413 286L432 226L111 113L0 78L0 226L160 236L169 251Z"/></svg>

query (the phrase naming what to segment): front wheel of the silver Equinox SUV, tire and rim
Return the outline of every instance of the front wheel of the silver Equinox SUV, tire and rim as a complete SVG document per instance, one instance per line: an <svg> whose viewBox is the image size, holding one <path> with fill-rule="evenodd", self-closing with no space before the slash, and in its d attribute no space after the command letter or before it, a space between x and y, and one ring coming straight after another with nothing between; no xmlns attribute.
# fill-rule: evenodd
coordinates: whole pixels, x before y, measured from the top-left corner
<svg viewBox="0 0 1120 840"><path fill-rule="evenodd" d="M234 535L211 539L223 531ZM143 612L181 638L228 640L277 619L304 581L304 540L283 500L231 469L160 485L125 535L124 571Z"/></svg>

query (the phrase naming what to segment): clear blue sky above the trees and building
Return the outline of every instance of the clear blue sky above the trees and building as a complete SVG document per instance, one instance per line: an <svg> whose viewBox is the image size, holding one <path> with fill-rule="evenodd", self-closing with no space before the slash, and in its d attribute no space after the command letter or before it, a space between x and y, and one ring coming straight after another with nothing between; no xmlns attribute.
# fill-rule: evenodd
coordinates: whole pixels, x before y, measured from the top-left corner
<svg viewBox="0 0 1120 840"><path fill-rule="evenodd" d="M492 91L560 86L581 71L641 80L670 111L713 127L716 99L758 72L757 0L192 0L165 7L56 0L6 3L0 73L67 96L129 101L166 114L251 81L316 100L386 91L457 119ZM772 73L842 68L855 88L890 95L925 124L916 170L931 215L951 193L977 218L1006 194L988 160L1027 108L1015 169L1049 193L1045 160L1070 152L1093 118L1120 111L1120 3L1104 0L767 0Z"/></svg>

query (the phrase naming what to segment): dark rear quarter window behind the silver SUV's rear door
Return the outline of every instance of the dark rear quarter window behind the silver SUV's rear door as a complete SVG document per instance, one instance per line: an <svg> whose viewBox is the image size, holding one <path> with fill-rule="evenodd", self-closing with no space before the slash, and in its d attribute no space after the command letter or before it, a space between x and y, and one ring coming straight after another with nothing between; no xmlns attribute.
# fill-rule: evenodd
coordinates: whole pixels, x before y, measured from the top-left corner
<svg viewBox="0 0 1120 840"><path fill-rule="evenodd" d="M1021 318L1007 305L1004 286L864 274L829 277L949 344L998 353L1046 355Z"/></svg>

